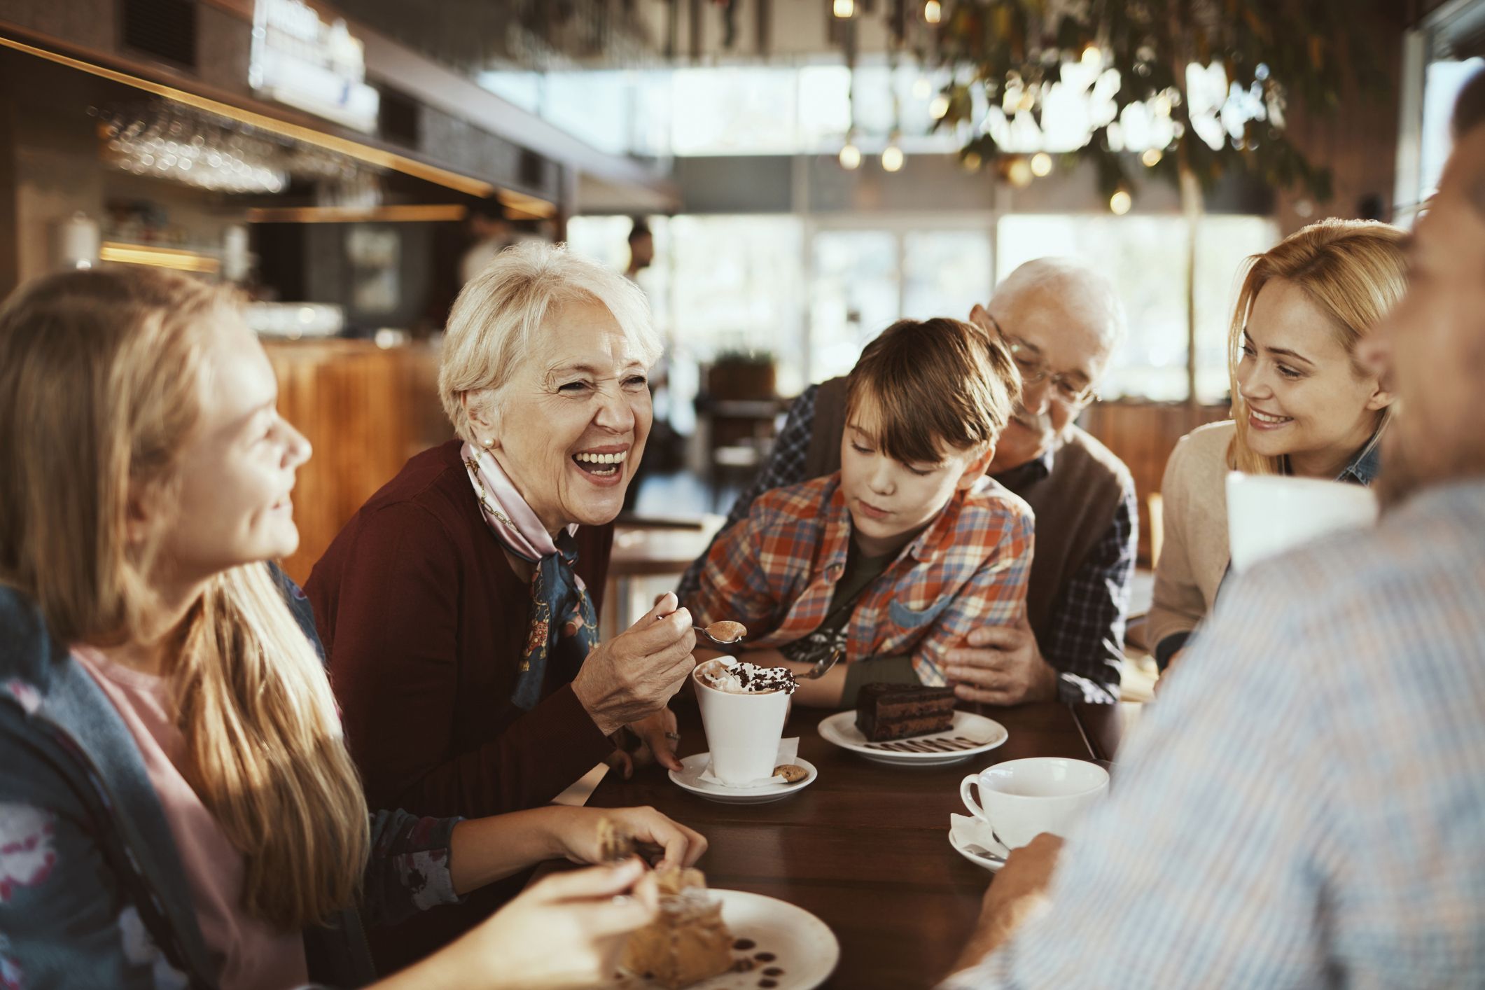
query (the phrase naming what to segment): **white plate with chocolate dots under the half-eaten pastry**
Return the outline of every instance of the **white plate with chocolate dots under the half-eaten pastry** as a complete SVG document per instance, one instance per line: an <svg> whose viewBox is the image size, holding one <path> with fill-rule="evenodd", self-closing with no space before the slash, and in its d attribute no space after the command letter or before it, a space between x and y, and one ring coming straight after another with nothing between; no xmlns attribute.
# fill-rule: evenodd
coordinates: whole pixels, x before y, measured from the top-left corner
<svg viewBox="0 0 1485 990"><path fill-rule="evenodd" d="M757 990L760 980L772 980L777 990L812 990L829 980L841 962L841 943L824 922L805 908L745 891L713 894L722 901L722 920L728 923L732 938L753 943L750 948L732 950L737 959L751 959L753 968L704 980L691 990ZM774 957L759 960L759 953ZM781 972L765 977L765 969ZM628 977L619 986L625 990L659 987L637 977Z"/></svg>

